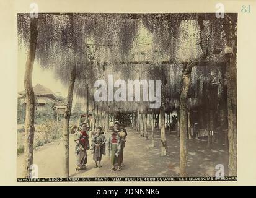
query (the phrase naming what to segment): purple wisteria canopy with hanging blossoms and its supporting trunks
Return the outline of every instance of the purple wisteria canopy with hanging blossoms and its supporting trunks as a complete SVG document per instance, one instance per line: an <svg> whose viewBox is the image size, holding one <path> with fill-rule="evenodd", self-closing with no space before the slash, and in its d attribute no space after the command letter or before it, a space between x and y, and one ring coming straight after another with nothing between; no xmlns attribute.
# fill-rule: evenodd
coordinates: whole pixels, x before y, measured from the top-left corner
<svg viewBox="0 0 256 198"><path fill-rule="evenodd" d="M224 19L217 19L214 14L53 13L39 14L38 19L19 14L20 44L24 41L28 49L24 85L30 104L26 110L24 176L29 176L33 163L33 59L43 68L52 69L68 87L63 131L65 176L69 176L68 129L73 93L87 98L87 110L89 105L94 109L93 125L97 123L105 129L107 115L121 110L133 113L136 129L148 138L147 119L160 114L163 156L167 147L165 113L179 112L182 176L187 175L187 122L193 116L192 110L203 109L210 134L213 112L219 106L219 112L228 119L229 175L236 176L236 27L235 14L225 14ZM94 83L98 79L108 82L108 75L126 82L161 79L161 107L150 109L147 101L95 101ZM214 86L219 95L216 101L210 99ZM225 93L227 100L222 99ZM154 126L151 139L154 145Z"/></svg>

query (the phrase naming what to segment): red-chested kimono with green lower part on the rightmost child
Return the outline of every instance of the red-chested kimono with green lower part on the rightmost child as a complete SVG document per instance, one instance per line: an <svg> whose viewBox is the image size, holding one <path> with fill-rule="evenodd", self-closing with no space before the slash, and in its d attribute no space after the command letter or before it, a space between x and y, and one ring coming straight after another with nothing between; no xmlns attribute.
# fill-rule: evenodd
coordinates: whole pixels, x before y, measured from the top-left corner
<svg viewBox="0 0 256 198"><path fill-rule="evenodd" d="M118 155L121 149L120 136L117 132L112 132L108 138L108 153L111 159L111 165L118 163Z"/></svg>

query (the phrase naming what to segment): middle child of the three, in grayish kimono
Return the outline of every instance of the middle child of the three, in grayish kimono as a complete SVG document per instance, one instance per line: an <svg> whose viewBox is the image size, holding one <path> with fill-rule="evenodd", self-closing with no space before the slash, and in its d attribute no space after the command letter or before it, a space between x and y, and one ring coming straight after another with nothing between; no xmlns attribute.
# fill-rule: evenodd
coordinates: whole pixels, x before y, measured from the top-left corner
<svg viewBox="0 0 256 198"><path fill-rule="evenodd" d="M102 165L100 164L101 159L102 159L102 154L106 154L105 150L105 142L107 139L105 138L103 132L102 132L102 127L97 127L96 133L94 136L92 136L92 154L93 154L93 159L95 161L95 166L94 168L100 168ZM99 165L97 165L97 161L99 161Z"/></svg>

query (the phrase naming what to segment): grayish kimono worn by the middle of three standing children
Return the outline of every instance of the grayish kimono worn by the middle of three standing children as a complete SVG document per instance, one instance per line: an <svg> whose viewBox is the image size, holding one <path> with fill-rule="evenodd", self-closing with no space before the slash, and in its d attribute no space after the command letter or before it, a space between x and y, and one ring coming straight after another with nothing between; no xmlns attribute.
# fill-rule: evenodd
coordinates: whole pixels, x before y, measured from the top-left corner
<svg viewBox="0 0 256 198"><path fill-rule="evenodd" d="M101 161L102 155L106 155L105 143L107 142L106 137L103 133L95 134L92 137L92 154L94 161ZM99 146L96 146L98 144Z"/></svg>

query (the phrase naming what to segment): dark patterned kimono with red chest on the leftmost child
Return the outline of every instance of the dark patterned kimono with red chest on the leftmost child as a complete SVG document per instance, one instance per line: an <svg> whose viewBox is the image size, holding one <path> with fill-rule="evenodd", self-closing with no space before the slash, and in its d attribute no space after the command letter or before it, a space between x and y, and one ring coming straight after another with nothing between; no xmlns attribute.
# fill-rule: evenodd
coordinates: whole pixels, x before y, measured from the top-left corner
<svg viewBox="0 0 256 198"><path fill-rule="evenodd" d="M84 166L87 163L87 152L90 149L89 136L86 131L77 131L74 134L74 141L76 143L76 165Z"/></svg>

